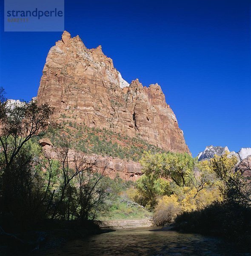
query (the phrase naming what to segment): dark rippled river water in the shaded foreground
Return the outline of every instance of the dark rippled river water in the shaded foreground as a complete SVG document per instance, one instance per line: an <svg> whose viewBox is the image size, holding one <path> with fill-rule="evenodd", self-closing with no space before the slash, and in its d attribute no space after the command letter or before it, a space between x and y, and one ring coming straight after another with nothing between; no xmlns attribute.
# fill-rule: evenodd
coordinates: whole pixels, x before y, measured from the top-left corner
<svg viewBox="0 0 251 256"><path fill-rule="evenodd" d="M59 249L47 251L48 256L168 256L168 255L251 255L238 253L225 241L198 234L184 234L162 229L137 228L117 230L76 240Z"/></svg>

